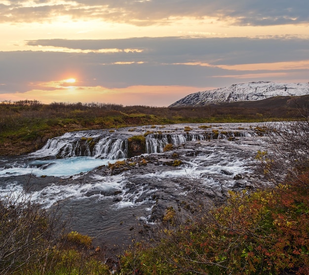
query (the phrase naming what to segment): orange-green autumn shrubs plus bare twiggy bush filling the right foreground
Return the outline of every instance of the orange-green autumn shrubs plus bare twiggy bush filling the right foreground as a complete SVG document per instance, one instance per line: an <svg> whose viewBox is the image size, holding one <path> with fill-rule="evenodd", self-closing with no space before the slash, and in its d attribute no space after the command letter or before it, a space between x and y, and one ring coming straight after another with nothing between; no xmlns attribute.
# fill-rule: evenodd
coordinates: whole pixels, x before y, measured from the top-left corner
<svg viewBox="0 0 309 275"><path fill-rule="evenodd" d="M307 125L266 131L277 147L257 159L273 187L230 192L223 205L202 207L178 224L169 209L157 241L139 243L139 253L134 248L120 259L123 274L308 275Z"/></svg>

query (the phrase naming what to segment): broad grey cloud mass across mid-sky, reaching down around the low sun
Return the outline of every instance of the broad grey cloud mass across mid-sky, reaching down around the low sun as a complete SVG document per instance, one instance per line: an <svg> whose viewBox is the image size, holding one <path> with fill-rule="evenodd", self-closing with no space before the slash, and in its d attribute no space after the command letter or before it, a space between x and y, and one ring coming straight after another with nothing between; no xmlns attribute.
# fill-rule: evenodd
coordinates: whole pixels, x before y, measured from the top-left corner
<svg viewBox="0 0 309 275"><path fill-rule="evenodd" d="M69 78L75 78L74 85L85 89L224 87L242 79L247 82L249 78L252 81L286 82L293 78L308 81L308 40L302 39L166 37L34 40L28 44L67 49L118 48L119 51L0 52L0 93L46 90L42 83ZM125 51L127 48L139 51ZM48 89L52 90L50 86Z"/></svg>

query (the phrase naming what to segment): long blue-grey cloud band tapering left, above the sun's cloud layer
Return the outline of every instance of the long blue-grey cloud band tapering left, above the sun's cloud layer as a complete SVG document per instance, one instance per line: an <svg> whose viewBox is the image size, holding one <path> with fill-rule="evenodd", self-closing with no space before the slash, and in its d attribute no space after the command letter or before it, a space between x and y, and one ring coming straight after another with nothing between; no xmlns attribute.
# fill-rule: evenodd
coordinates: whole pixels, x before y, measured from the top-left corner
<svg viewBox="0 0 309 275"><path fill-rule="evenodd" d="M308 59L308 39L290 38L129 38L111 40L34 40L29 46L53 46L67 49L118 49L97 54L101 63L153 62L186 63L199 61L211 65L250 64ZM138 49L125 52L125 49Z"/></svg>

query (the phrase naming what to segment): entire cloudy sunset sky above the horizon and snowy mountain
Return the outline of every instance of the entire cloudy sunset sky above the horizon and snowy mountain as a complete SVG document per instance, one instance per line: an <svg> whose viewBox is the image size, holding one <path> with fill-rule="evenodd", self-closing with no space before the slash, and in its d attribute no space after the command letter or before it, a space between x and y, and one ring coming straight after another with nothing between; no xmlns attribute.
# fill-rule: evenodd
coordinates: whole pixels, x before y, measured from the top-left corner
<svg viewBox="0 0 309 275"><path fill-rule="evenodd" d="M309 81L308 0L0 0L0 101L168 106Z"/></svg>

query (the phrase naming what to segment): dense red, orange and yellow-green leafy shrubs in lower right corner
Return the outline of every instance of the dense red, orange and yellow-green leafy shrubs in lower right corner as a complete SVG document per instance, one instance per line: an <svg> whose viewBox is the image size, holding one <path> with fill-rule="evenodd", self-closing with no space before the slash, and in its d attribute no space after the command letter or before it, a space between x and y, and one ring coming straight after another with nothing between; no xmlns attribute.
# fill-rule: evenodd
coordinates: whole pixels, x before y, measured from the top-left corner
<svg viewBox="0 0 309 275"><path fill-rule="evenodd" d="M308 174L302 177L309 181ZM169 210L164 222L174 215ZM224 206L198 220L162 229L160 241L134 259L136 274L305 275L308 232L308 189L287 184L250 195L231 193ZM132 255L126 253L122 267L128 271Z"/></svg>

